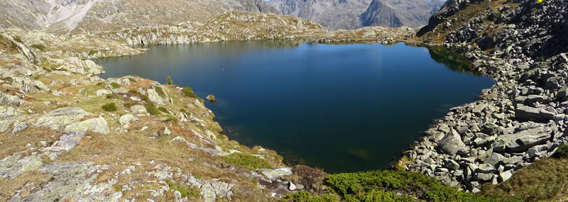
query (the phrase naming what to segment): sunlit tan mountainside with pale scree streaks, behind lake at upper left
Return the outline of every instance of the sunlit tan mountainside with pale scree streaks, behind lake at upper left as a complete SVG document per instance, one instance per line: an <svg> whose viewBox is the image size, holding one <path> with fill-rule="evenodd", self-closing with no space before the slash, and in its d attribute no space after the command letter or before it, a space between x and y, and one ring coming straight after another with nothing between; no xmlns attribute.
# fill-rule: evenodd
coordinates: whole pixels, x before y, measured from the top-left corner
<svg viewBox="0 0 568 202"><path fill-rule="evenodd" d="M234 10L275 12L260 0L40 0L0 4L0 28L45 29L60 34L203 22Z"/></svg>

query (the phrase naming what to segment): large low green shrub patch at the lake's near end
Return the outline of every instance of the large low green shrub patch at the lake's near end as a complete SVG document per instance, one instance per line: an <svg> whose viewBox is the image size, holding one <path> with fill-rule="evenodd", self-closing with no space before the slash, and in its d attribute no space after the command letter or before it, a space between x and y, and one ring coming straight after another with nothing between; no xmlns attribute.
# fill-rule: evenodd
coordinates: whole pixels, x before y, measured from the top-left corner
<svg viewBox="0 0 568 202"><path fill-rule="evenodd" d="M327 176L326 182L345 198L356 201L374 201L373 199L390 201L388 198L394 201L407 201L405 199L408 198L400 198L405 196L391 194L401 191L405 193L410 191L410 196L426 201L489 201L478 194L458 191L436 179L415 172L372 171L332 174Z"/></svg>

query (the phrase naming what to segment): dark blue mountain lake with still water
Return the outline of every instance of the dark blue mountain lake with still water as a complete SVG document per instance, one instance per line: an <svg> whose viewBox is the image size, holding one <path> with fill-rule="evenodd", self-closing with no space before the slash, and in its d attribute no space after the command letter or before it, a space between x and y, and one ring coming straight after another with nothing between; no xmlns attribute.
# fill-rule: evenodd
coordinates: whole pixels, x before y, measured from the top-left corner
<svg viewBox="0 0 568 202"><path fill-rule="evenodd" d="M325 172L384 169L449 108L493 82L447 52L384 45L249 41L146 46L96 60L102 75L191 86L229 138Z"/></svg>

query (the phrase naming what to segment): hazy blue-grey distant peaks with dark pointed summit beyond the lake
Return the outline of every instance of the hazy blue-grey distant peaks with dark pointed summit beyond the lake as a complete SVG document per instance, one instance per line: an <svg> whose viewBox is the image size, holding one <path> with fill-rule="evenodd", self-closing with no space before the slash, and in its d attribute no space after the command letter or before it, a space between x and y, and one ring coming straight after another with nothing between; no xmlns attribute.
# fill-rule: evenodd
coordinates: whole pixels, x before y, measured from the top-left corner
<svg viewBox="0 0 568 202"><path fill-rule="evenodd" d="M354 29L364 26L417 28L444 4L438 0L271 0L280 13L306 18L322 26Z"/></svg>

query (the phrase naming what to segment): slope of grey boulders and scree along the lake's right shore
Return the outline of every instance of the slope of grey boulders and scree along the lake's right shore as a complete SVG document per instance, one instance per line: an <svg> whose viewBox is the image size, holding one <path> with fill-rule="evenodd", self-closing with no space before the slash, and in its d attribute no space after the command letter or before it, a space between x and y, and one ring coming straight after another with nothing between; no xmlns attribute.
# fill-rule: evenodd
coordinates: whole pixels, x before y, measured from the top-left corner
<svg viewBox="0 0 568 202"><path fill-rule="evenodd" d="M432 24L431 18L430 27L423 30L449 29L448 16L479 4L455 2L432 17L442 21ZM472 69L496 84L484 89L479 101L452 108L435 120L427 135L404 152L413 161L405 169L479 192L483 184L506 181L568 143L568 55L562 46L567 42L566 5L509 3L487 6L463 26L449 29L442 44L428 43L427 38L410 42L464 51Z"/></svg>

